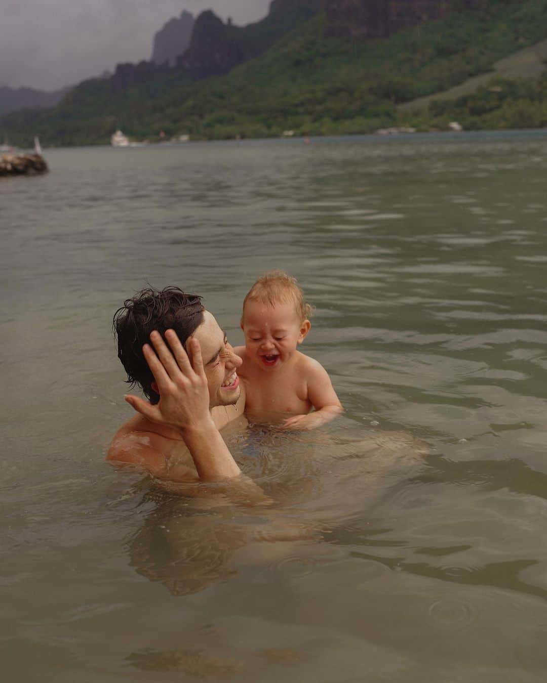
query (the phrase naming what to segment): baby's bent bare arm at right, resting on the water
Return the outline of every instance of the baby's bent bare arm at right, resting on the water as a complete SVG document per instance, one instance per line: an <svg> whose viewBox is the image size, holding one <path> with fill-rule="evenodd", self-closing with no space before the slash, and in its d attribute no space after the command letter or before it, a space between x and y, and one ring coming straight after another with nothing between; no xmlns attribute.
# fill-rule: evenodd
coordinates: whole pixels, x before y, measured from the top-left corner
<svg viewBox="0 0 547 683"><path fill-rule="evenodd" d="M308 415L295 415L283 423L286 429L315 429L344 412L327 371L317 361L306 357L308 399L315 408Z"/></svg>

